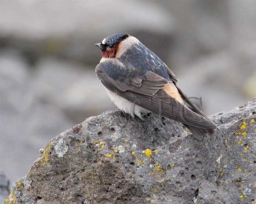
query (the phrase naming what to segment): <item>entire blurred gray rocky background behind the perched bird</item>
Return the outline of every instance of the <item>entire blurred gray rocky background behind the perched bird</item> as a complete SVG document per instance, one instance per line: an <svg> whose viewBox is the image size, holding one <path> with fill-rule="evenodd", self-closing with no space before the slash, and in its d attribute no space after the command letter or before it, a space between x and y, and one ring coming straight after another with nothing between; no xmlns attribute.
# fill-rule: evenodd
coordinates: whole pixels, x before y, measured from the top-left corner
<svg viewBox="0 0 256 204"><path fill-rule="evenodd" d="M160 56L207 114L256 95L256 1L0 1L0 169L14 182L38 150L115 109L93 44L124 31Z"/></svg>

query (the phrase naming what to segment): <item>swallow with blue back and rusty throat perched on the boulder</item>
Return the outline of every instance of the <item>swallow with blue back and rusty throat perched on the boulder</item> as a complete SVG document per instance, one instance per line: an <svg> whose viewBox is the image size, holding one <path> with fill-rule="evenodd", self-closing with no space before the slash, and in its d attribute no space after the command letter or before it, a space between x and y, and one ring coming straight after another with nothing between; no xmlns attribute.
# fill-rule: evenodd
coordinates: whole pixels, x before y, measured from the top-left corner
<svg viewBox="0 0 256 204"><path fill-rule="evenodd" d="M102 54L96 75L118 109L181 122L199 140L214 132L216 125L180 90L172 70L140 40L114 33L95 45Z"/></svg>

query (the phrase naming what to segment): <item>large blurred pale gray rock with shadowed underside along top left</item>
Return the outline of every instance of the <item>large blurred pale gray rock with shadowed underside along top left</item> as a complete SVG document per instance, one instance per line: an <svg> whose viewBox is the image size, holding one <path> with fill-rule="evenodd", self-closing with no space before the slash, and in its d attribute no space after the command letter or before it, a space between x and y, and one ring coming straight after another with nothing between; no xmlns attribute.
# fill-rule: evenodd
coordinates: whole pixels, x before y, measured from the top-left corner
<svg viewBox="0 0 256 204"><path fill-rule="evenodd" d="M3 0L0 8L3 43L21 50L33 63L42 56L54 55L95 64L100 57L94 43L112 33L143 32L152 38L158 36L157 42L165 45L173 27L170 12L154 2ZM149 43L154 45L152 38ZM168 53L167 49L162 46L159 50Z"/></svg>

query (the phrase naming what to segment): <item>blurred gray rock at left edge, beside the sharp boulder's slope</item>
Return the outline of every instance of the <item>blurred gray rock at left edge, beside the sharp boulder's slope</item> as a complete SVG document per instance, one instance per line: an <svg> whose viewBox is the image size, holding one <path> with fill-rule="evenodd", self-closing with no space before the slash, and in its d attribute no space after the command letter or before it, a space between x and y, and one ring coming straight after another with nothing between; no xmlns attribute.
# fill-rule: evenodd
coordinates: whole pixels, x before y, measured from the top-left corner
<svg viewBox="0 0 256 204"><path fill-rule="evenodd" d="M14 182L26 174L38 149L52 135L72 126L58 107L37 95L33 72L22 58L1 52L0 57L1 169Z"/></svg>

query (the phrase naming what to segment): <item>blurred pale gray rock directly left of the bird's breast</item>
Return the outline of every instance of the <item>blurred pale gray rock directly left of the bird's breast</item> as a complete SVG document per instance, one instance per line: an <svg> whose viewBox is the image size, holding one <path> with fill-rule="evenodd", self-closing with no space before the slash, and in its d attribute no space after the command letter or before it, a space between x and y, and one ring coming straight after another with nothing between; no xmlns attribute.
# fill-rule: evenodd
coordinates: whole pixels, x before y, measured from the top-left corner
<svg viewBox="0 0 256 204"><path fill-rule="evenodd" d="M35 89L41 100L59 107L75 123L115 109L94 68L70 61L40 61L35 71Z"/></svg>

